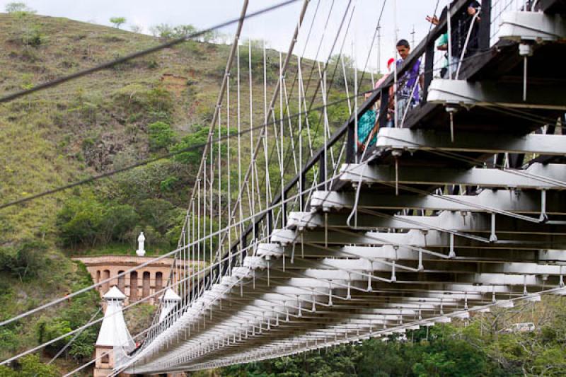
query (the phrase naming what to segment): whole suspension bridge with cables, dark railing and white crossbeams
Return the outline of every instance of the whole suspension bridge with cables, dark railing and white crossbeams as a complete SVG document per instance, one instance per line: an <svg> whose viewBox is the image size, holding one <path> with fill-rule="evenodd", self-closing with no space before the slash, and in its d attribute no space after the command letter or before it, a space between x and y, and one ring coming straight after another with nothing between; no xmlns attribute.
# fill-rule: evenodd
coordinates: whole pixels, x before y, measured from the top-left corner
<svg viewBox="0 0 566 377"><path fill-rule="evenodd" d="M344 3L327 16L302 2L270 88L262 50L258 99L251 44L238 42L243 1L168 294L137 345L114 345L112 375L272 359L566 294L565 2L480 1L464 42L477 28L478 49L441 79L437 40L451 44L470 3L452 1L379 86L329 64L360 11ZM328 55L301 59L297 41L333 11ZM421 100L391 111L417 61ZM362 147L372 109L379 132Z"/></svg>

